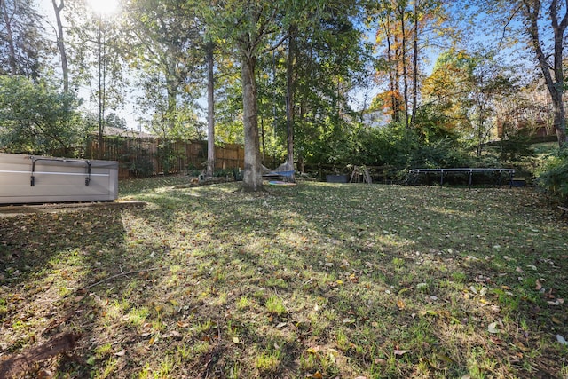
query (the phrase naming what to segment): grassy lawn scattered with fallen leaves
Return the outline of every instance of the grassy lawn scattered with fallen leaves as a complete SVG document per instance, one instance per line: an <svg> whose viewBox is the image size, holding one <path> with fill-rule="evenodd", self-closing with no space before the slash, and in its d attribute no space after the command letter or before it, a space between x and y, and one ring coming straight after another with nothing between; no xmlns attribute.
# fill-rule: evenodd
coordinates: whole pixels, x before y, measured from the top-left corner
<svg viewBox="0 0 568 379"><path fill-rule="evenodd" d="M528 188L121 184L0 217L0 360L30 377L568 377L568 223Z"/></svg>

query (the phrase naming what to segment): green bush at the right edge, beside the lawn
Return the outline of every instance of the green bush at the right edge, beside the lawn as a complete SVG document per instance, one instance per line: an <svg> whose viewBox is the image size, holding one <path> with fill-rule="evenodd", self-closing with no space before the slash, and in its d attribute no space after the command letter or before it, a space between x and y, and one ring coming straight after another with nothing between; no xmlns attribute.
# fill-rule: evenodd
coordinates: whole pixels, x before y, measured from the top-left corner
<svg viewBox="0 0 568 379"><path fill-rule="evenodd" d="M563 201L568 200L568 147L545 160L538 173L538 183Z"/></svg>

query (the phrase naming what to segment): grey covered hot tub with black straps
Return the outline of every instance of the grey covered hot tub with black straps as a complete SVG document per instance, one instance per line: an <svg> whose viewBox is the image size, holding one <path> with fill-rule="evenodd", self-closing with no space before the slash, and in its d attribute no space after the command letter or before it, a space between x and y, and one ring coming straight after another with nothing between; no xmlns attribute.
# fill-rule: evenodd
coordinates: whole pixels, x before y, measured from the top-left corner
<svg viewBox="0 0 568 379"><path fill-rule="evenodd" d="M0 204L117 197L118 162L0 153Z"/></svg>

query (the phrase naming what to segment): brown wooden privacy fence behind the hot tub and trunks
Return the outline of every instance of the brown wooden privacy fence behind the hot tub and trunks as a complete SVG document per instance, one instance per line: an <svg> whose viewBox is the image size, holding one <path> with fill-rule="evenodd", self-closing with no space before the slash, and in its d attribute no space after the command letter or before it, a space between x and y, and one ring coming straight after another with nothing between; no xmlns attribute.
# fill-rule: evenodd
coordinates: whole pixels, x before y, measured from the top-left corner
<svg viewBox="0 0 568 379"><path fill-rule="evenodd" d="M85 157L120 162L119 177L150 177L203 170L207 162L206 141L164 141L162 138L105 137L87 141ZM215 168L244 166L241 145L215 146Z"/></svg>

